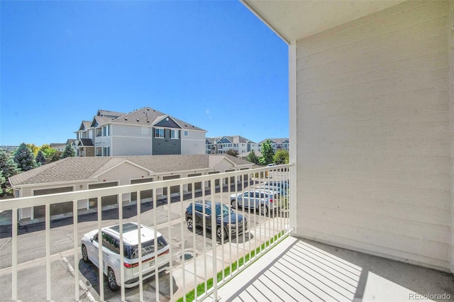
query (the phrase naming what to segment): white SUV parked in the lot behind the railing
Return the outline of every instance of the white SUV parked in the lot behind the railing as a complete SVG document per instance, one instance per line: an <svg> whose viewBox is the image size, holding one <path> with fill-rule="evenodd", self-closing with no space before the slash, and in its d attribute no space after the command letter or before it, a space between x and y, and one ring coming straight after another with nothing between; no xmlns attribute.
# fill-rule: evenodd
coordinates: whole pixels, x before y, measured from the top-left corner
<svg viewBox="0 0 454 302"><path fill-rule="evenodd" d="M103 272L107 276L109 288L116 291L121 286L120 273L120 225L113 225L102 230ZM170 269L169 245L159 232L157 236L157 257L155 259L155 230L146 225L140 227L142 244L143 279L158 272ZM81 240L82 259L99 267L98 230L85 234ZM125 287L139 284L138 224L123 223L123 262Z"/></svg>

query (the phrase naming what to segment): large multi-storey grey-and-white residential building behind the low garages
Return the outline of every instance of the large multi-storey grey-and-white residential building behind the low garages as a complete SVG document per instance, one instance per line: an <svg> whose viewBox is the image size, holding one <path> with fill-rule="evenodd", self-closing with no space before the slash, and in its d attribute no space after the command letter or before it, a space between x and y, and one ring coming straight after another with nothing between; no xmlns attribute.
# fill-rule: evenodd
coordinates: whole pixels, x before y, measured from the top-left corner
<svg viewBox="0 0 454 302"><path fill-rule="evenodd" d="M204 154L205 133L150 107L130 113L99 110L76 131L78 156Z"/></svg>

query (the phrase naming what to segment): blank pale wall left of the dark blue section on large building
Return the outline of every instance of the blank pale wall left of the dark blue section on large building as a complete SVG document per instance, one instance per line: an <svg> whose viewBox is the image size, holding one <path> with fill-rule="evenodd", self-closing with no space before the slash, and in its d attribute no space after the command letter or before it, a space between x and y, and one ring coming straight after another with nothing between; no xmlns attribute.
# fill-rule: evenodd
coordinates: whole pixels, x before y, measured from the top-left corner
<svg viewBox="0 0 454 302"><path fill-rule="evenodd" d="M152 128L111 125L111 155L152 155Z"/></svg>

